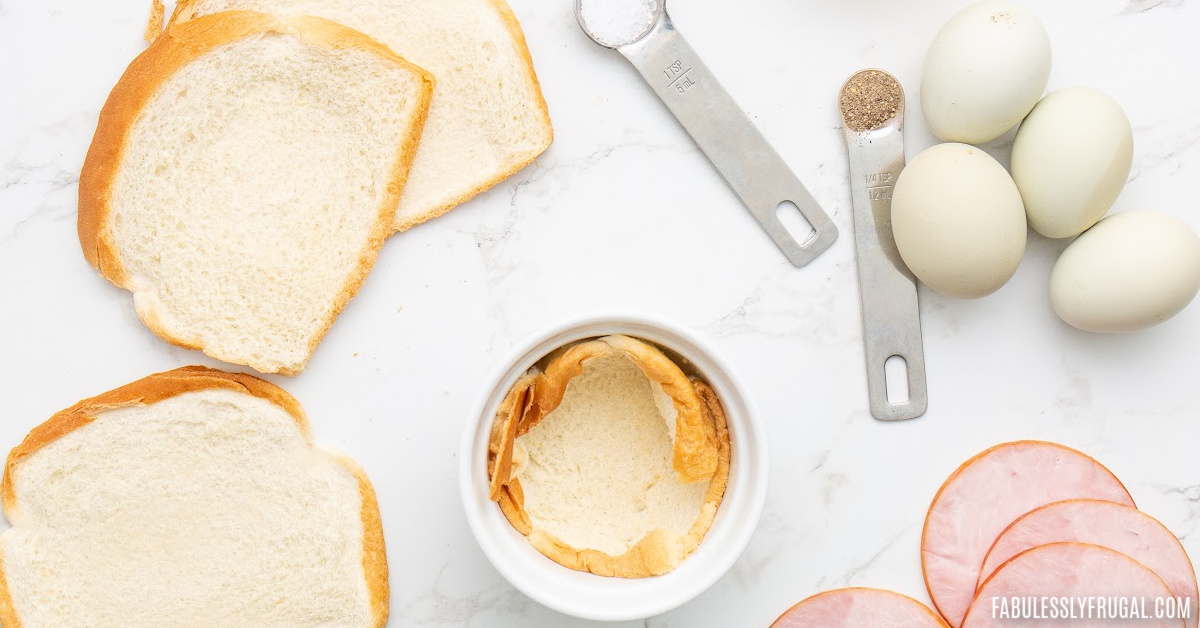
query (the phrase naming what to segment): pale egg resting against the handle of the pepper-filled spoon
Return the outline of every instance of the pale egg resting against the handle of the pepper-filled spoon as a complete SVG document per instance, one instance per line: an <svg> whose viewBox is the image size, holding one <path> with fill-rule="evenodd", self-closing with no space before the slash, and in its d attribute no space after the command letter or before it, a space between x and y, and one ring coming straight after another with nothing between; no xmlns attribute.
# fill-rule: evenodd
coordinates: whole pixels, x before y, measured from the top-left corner
<svg viewBox="0 0 1200 628"><path fill-rule="evenodd" d="M1004 167L966 144L938 144L896 179L892 233L900 257L930 288L985 297L1016 273L1025 253L1025 209Z"/></svg>

